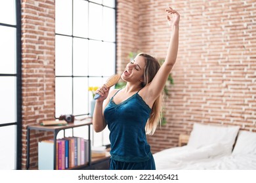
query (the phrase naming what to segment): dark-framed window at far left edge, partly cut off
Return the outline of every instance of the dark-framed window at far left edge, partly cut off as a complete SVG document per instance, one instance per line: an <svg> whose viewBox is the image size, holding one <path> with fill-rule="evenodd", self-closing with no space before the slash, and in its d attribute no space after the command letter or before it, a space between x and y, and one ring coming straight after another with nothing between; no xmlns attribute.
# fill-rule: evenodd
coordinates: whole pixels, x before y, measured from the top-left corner
<svg viewBox="0 0 256 183"><path fill-rule="evenodd" d="M20 1L0 1L0 169L21 169Z"/></svg>

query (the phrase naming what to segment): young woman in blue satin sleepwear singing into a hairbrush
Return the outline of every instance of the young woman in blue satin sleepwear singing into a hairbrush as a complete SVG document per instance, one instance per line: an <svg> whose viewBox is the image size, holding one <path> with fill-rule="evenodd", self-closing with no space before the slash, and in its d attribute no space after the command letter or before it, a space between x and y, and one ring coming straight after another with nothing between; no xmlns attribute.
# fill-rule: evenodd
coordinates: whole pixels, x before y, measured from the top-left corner
<svg viewBox="0 0 256 183"><path fill-rule="evenodd" d="M179 45L179 13L171 7L165 11L171 40L163 65L140 53L121 75L127 82L125 88L109 92L104 85L96 91L100 98L96 100L93 128L100 132L108 125L110 129L110 169L156 169L146 134L152 135L160 122L161 93Z"/></svg>

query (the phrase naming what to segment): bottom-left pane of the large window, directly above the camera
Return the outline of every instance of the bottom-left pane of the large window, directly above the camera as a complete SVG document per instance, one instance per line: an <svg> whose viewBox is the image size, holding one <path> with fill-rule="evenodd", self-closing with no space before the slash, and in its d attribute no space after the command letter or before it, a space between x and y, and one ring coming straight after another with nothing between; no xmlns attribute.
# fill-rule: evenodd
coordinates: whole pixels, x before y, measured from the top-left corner
<svg viewBox="0 0 256 183"><path fill-rule="evenodd" d="M56 78L55 80L55 116L72 114L72 78Z"/></svg>

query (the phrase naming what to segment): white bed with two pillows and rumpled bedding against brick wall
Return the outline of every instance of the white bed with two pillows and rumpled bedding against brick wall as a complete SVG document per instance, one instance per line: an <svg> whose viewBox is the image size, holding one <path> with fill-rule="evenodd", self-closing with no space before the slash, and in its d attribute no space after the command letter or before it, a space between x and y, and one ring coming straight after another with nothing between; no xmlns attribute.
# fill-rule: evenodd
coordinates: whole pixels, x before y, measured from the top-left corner
<svg viewBox="0 0 256 183"><path fill-rule="evenodd" d="M256 133L239 126L194 124L186 146L153 156L158 170L256 170Z"/></svg>

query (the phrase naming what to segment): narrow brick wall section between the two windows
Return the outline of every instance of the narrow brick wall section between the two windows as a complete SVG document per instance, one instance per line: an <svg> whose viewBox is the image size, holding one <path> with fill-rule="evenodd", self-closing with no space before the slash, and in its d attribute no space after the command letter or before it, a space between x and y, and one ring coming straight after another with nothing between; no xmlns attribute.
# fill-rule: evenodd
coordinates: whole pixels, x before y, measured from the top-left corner
<svg viewBox="0 0 256 183"><path fill-rule="evenodd" d="M22 0L22 169L26 168L26 127L54 119L54 0ZM37 142L47 133L31 131L30 167Z"/></svg>

